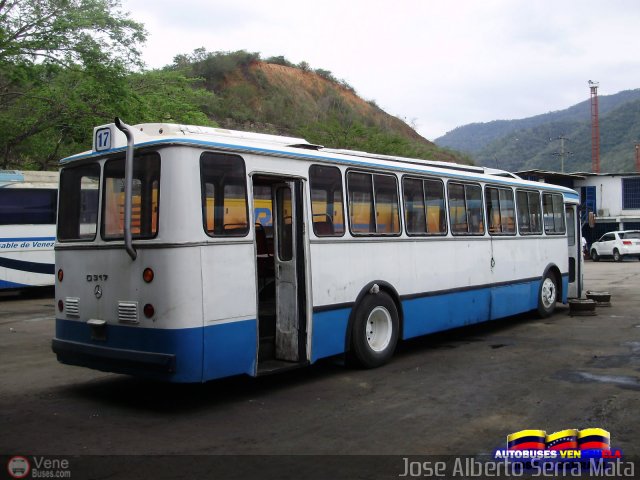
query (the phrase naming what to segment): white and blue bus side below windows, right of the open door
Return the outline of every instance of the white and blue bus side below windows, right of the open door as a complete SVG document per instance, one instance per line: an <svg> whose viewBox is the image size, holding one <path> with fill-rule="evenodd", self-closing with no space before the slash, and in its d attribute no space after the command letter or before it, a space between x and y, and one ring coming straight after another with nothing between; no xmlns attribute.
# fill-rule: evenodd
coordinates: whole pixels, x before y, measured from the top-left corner
<svg viewBox="0 0 640 480"><path fill-rule="evenodd" d="M567 271L566 255L558 253L566 238L515 240L312 242L313 298L315 308L321 310L313 315L312 361L345 351L351 308L341 305L355 306L362 288L375 280L388 283L400 296L404 339L536 309L542 266ZM346 278L344 271L349 272ZM562 275L562 292L566 302L566 275Z"/></svg>

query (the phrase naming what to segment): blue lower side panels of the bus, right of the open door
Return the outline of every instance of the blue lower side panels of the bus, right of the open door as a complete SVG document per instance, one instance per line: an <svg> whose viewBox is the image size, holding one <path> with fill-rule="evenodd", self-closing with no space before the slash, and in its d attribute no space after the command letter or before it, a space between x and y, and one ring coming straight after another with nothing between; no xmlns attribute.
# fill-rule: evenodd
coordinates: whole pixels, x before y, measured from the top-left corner
<svg viewBox="0 0 640 480"><path fill-rule="evenodd" d="M538 307L541 279L402 300L403 339L516 315ZM568 275L562 275L562 302ZM351 308L313 314L311 361L344 353Z"/></svg>

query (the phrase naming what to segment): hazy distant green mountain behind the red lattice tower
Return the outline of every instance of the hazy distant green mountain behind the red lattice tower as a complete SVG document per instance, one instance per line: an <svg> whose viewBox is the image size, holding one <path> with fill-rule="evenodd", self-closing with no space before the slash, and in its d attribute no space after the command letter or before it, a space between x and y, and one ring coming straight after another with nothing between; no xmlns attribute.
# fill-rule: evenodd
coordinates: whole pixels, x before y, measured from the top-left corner
<svg viewBox="0 0 640 480"><path fill-rule="evenodd" d="M640 89L598 100L601 171L633 171L635 143L640 141ZM436 143L469 153L479 165L510 171L559 171L558 137L562 136L567 139L564 170L591 171L590 105L586 100L566 110L521 120L466 125L436 139Z"/></svg>

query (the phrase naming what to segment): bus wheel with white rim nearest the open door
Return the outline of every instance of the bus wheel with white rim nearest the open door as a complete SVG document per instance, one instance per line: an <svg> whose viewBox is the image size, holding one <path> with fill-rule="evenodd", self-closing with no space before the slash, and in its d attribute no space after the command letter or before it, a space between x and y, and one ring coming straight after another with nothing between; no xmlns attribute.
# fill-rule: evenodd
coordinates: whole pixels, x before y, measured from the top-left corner
<svg viewBox="0 0 640 480"><path fill-rule="evenodd" d="M364 368L389 361L398 343L398 309L384 292L367 295L357 307L351 329L350 356Z"/></svg>

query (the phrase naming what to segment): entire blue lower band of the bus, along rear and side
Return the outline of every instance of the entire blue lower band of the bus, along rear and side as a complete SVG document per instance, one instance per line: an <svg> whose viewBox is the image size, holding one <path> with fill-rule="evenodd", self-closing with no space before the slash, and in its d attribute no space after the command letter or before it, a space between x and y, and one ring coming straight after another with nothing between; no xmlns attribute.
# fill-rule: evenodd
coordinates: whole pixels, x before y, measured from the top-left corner
<svg viewBox="0 0 640 480"><path fill-rule="evenodd" d="M568 275L562 276L563 302L567 299ZM2 283L0 283L2 285ZM403 338L503 318L537 307L540 280L499 285L402 301ZM351 308L341 306L313 314L311 362L345 351ZM119 367L105 360L67 363L143 375L172 382L201 382L231 375L256 373L257 322L255 319L184 329L142 328L108 325L107 339L91 339L91 327L82 321L56 319L56 338L102 348L172 354L174 373L147 372ZM64 363L64 359L61 359Z"/></svg>

